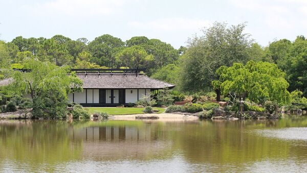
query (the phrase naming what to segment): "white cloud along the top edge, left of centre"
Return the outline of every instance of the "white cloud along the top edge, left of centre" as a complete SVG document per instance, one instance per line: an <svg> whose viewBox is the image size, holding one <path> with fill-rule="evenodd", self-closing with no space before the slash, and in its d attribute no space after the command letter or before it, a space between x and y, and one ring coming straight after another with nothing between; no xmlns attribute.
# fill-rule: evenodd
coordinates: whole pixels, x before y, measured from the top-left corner
<svg viewBox="0 0 307 173"><path fill-rule="evenodd" d="M36 14L95 16L120 13L126 3L134 0L55 0L30 6Z"/></svg>

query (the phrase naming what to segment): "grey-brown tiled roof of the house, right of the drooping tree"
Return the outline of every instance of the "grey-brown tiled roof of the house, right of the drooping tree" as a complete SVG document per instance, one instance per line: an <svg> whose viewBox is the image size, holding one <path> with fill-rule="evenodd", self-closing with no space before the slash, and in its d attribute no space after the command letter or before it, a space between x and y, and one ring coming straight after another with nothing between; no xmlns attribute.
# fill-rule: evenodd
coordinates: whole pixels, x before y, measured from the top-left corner
<svg viewBox="0 0 307 173"><path fill-rule="evenodd" d="M173 88L175 85L136 74L77 74L83 88Z"/></svg>

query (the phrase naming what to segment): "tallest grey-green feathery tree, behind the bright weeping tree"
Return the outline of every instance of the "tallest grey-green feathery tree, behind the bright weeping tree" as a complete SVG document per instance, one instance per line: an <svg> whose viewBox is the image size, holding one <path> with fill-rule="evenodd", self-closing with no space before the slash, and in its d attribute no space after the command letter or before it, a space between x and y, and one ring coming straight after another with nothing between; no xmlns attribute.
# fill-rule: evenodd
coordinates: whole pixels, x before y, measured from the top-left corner
<svg viewBox="0 0 307 173"><path fill-rule="evenodd" d="M250 57L253 40L244 33L244 23L227 27L215 22L203 30L203 35L188 40L187 51L182 56L181 86L186 91L211 90L211 82L218 79L215 71L220 66L235 62L246 63Z"/></svg>

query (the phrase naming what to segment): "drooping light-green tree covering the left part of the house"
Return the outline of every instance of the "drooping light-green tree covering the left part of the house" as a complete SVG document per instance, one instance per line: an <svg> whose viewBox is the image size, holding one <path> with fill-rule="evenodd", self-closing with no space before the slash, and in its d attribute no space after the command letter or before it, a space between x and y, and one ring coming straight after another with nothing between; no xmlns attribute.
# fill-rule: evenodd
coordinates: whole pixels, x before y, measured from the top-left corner
<svg viewBox="0 0 307 173"><path fill-rule="evenodd" d="M69 72L68 66L57 67L50 62L28 59L24 63L28 72L15 71L10 89L30 93L33 100L33 116L61 118L67 112L67 93L82 91L82 81ZM73 88L73 89L71 89Z"/></svg>

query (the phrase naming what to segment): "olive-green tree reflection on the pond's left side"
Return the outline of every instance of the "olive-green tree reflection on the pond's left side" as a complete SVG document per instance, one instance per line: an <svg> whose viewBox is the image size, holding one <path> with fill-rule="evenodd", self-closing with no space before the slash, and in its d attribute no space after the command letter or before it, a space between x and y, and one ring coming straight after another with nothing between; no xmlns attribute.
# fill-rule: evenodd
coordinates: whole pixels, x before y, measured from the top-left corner
<svg viewBox="0 0 307 173"><path fill-rule="evenodd" d="M81 154L81 141L71 145L68 128L64 121L1 121L0 160L54 166L75 160Z"/></svg>

